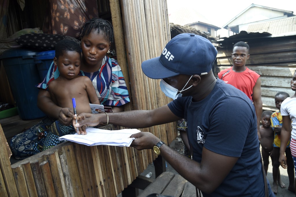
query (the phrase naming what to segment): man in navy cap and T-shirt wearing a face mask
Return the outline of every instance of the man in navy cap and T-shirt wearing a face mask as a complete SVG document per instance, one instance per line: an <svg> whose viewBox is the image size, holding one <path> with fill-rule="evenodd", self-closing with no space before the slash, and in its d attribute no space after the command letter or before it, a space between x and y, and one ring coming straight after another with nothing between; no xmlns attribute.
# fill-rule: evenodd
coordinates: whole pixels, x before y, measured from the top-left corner
<svg viewBox="0 0 296 197"><path fill-rule="evenodd" d="M133 134L131 146L153 148L207 196L274 196L263 173L254 105L240 90L216 79L217 50L207 39L183 33L142 70L162 79L161 90L174 100L154 110L78 115L75 126L111 123L145 128L185 118L192 160L149 132Z"/></svg>

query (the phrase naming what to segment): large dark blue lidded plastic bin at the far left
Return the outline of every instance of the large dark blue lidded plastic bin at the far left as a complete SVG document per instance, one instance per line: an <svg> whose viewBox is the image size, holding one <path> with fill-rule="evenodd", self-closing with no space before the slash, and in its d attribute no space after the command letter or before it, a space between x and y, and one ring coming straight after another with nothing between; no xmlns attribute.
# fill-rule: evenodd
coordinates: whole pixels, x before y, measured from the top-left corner
<svg viewBox="0 0 296 197"><path fill-rule="evenodd" d="M27 49L9 49L3 52L3 62L9 85L21 119L42 118L45 114L37 107L38 88L40 83L38 69L34 62L37 51Z"/></svg>

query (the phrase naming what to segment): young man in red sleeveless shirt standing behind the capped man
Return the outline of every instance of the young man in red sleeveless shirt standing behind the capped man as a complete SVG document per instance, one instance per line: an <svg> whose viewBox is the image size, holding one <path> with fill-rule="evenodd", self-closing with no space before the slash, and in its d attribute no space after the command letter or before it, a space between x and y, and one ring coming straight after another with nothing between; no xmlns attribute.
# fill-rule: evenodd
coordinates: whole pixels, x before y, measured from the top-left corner
<svg viewBox="0 0 296 197"><path fill-rule="evenodd" d="M242 41L233 46L233 66L218 73L218 78L244 92L253 102L257 116L257 133L260 136L260 119L262 114L260 75L246 67L250 57L249 45Z"/></svg>

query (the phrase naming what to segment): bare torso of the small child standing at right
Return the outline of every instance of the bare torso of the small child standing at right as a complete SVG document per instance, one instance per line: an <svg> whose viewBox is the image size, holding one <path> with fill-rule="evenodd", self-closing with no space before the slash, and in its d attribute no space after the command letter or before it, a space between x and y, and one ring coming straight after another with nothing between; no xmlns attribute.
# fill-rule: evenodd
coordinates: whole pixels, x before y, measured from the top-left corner
<svg viewBox="0 0 296 197"><path fill-rule="evenodd" d="M270 153L273 150L273 142L274 142L274 131L271 127L264 128L260 126L260 135L261 140L260 144L266 152Z"/></svg>

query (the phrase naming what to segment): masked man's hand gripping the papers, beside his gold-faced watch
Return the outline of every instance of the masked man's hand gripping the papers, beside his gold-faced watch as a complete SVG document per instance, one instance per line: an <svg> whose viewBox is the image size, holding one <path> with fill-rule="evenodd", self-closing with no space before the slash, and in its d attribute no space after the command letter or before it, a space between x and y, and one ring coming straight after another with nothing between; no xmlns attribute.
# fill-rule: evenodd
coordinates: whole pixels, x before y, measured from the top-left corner
<svg viewBox="0 0 296 197"><path fill-rule="evenodd" d="M139 132L132 134L130 138L136 138L131 142L131 147L134 147L138 150L143 149L152 149L157 142L161 141L159 138L157 138L155 135L149 132Z"/></svg>

